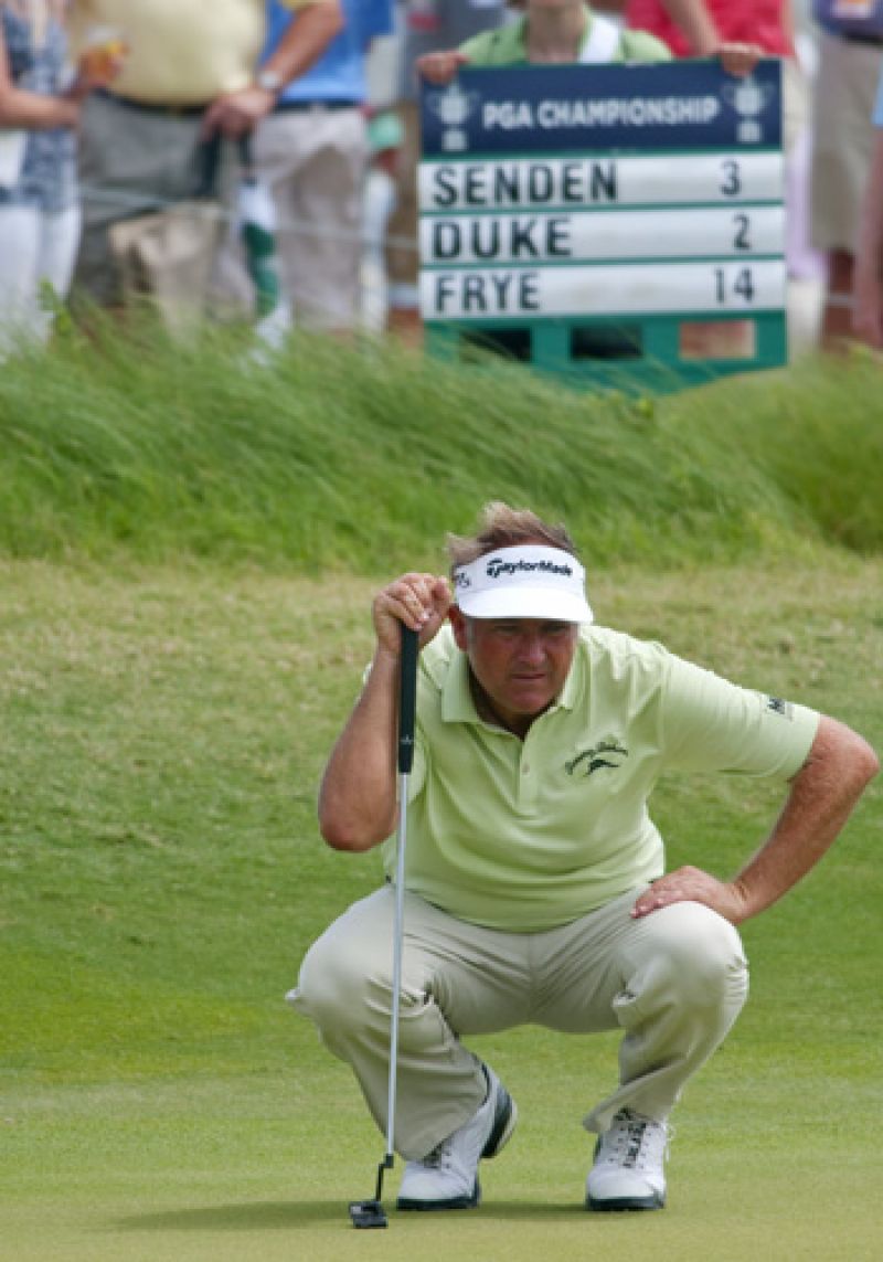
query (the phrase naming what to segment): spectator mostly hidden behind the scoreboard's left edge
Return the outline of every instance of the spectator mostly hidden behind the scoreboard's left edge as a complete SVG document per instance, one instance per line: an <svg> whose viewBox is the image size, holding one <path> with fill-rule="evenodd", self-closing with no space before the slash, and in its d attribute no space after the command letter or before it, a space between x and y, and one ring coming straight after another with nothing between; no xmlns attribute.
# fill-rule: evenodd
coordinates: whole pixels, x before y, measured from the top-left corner
<svg viewBox="0 0 883 1262"><path fill-rule="evenodd" d="M402 57L397 111L404 139L396 173L395 207L389 221L386 270L391 332L410 342L420 339L418 194L420 117L416 59L440 48L453 48L482 30L507 20L505 0L400 0Z"/></svg>

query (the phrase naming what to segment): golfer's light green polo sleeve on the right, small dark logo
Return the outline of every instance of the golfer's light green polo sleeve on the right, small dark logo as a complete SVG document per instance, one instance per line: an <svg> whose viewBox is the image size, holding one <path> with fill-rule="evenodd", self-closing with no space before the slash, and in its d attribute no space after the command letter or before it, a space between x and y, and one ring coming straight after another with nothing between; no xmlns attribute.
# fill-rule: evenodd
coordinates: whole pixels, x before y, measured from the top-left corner
<svg viewBox="0 0 883 1262"><path fill-rule="evenodd" d="M819 727L816 711L740 688L666 654L661 741L666 767L790 780Z"/></svg>

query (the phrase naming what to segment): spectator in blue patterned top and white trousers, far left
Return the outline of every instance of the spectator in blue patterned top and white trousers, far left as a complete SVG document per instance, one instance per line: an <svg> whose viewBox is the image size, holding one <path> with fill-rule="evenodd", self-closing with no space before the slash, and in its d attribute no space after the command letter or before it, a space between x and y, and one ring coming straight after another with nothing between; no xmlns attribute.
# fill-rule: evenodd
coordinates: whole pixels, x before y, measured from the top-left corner
<svg viewBox="0 0 883 1262"><path fill-rule="evenodd" d="M64 5L0 0L0 356L4 331L45 339L48 284L67 294L79 240L73 129L88 93L120 71L124 49L92 48L67 76Z"/></svg>

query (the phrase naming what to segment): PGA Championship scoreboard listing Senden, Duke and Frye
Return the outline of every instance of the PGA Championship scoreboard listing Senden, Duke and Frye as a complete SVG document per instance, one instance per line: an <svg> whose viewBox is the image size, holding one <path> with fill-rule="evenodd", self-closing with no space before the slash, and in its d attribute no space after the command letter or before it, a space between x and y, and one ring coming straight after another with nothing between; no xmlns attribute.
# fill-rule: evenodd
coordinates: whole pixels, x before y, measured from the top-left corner
<svg viewBox="0 0 883 1262"><path fill-rule="evenodd" d="M465 69L421 114L433 353L657 389L786 362L777 62Z"/></svg>

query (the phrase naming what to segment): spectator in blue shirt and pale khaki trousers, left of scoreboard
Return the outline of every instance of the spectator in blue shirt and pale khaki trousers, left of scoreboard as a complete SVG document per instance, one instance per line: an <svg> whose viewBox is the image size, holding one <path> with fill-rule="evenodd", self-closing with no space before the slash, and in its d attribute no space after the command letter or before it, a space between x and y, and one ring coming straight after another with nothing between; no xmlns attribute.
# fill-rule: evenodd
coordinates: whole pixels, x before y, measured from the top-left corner
<svg viewBox="0 0 883 1262"><path fill-rule="evenodd" d="M283 88L255 130L255 173L276 212L283 294L295 323L352 329L361 307L362 204L367 170L366 54L392 29L392 0L343 0L344 28L322 57ZM303 15L294 18L294 25ZM270 64L289 29L267 4Z"/></svg>

